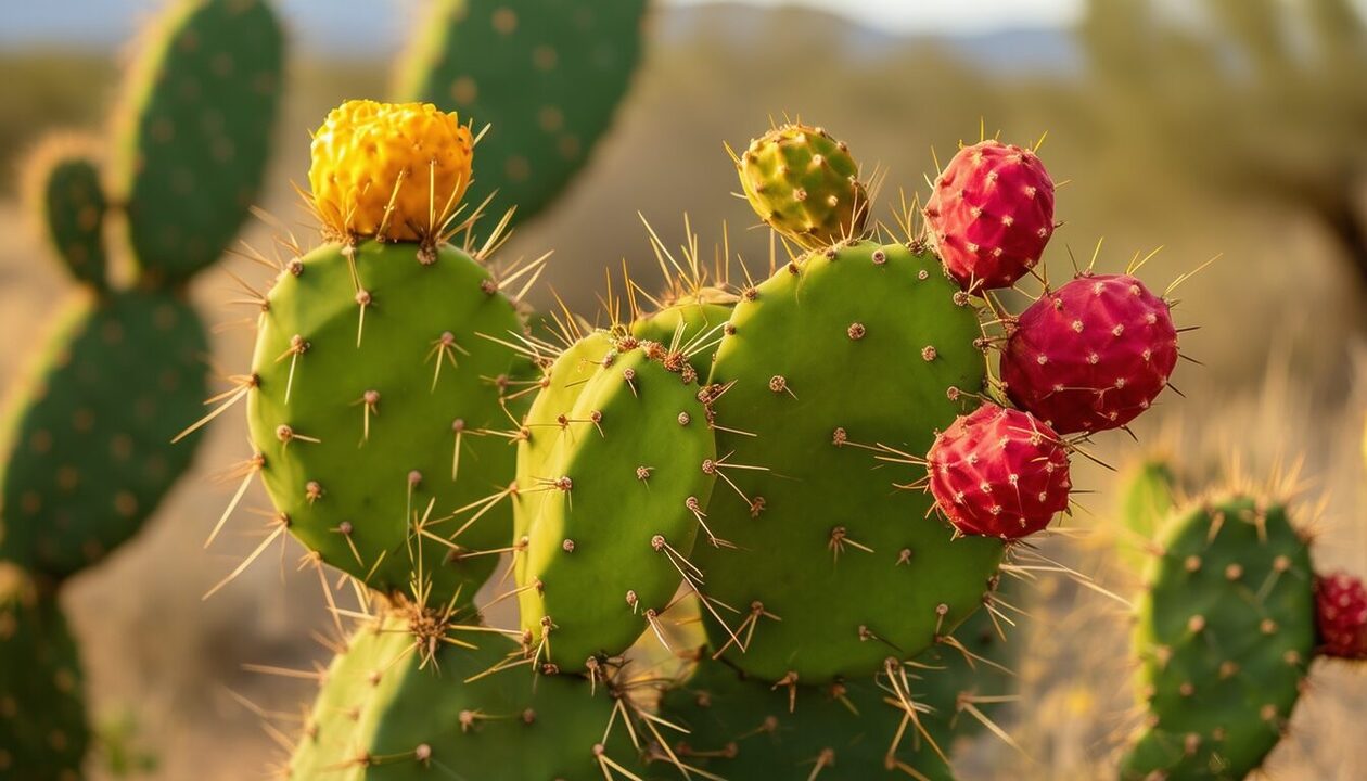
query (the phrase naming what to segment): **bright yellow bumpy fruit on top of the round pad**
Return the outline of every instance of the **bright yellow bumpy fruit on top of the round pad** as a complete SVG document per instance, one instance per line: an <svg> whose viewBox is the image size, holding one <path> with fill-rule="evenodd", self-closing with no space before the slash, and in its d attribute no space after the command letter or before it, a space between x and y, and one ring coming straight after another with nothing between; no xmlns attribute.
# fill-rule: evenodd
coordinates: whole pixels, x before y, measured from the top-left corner
<svg viewBox="0 0 1367 781"><path fill-rule="evenodd" d="M336 237L431 239L470 185L473 152L455 112L349 100L313 134L314 211Z"/></svg>

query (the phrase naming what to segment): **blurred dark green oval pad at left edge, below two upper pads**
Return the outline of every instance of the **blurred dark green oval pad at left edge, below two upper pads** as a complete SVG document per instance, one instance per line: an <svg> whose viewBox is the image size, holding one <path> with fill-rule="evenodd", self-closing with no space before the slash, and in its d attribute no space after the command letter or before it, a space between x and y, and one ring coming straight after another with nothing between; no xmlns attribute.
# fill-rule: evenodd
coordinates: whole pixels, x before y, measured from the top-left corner
<svg viewBox="0 0 1367 781"><path fill-rule="evenodd" d="M190 466L208 336L176 294L79 293L4 417L0 558L66 577L131 538Z"/></svg>

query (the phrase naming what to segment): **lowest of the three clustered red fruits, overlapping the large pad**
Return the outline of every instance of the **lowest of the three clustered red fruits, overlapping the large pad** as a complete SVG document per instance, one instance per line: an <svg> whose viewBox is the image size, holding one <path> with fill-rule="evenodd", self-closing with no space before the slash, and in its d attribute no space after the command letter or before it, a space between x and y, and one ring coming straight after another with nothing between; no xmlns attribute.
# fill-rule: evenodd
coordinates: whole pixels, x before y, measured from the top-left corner
<svg viewBox="0 0 1367 781"><path fill-rule="evenodd" d="M965 535L1014 540L1068 507L1073 483L1058 435L1029 413L984 403L935 438L931 494Z"/></svg>

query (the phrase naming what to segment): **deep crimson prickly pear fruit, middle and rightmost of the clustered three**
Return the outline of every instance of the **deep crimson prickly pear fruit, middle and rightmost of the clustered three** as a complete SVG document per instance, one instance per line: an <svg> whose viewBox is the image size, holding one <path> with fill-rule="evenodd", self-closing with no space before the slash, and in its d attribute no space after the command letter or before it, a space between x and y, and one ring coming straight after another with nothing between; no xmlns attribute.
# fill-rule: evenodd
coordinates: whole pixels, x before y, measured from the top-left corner
<svg viewBox="0 0 1367 781"><path fill-rule="evenodd" d="M1120 428L1177 365L1167 302L1128 274L1083 274L1017 319L1002 353L1012 402L1059 434Z"/></svg>

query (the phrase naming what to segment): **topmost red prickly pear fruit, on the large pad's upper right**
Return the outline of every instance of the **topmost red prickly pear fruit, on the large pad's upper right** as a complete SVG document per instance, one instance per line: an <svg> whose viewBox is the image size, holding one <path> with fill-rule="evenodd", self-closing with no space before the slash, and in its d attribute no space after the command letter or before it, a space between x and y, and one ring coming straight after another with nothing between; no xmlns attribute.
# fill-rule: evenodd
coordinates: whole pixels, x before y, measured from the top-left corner
<svg viewBox="0 0 1367 781"><path fill-rule="evenodd" d="M1054 181L1029 149L992 140L965 146L935 179L925 224L964 290L1010 287L1054 235Z"/></svg>

